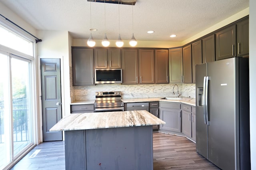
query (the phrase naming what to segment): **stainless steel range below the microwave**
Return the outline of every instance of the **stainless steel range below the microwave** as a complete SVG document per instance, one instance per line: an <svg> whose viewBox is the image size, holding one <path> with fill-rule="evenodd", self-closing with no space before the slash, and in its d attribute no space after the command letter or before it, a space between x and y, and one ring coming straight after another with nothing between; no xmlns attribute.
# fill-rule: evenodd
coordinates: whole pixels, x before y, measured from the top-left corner
<svg viewBox="0 0 256 170"><path fill-rule="evenodd" d="M121 91L100 91L95 95L95 112L124 111Z"/></svg>

